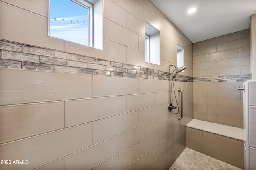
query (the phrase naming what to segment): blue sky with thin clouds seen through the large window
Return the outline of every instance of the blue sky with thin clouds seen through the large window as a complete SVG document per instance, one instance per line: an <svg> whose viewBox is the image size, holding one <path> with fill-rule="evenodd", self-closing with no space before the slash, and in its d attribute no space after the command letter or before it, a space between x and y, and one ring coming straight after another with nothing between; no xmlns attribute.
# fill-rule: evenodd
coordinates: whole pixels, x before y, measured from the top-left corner
<svg viewBox="0 0 256 170"><path fill-rule="evenodd" d="M50 36L88 46L88 20L88 9L70 0L50 0Z"/></svg>

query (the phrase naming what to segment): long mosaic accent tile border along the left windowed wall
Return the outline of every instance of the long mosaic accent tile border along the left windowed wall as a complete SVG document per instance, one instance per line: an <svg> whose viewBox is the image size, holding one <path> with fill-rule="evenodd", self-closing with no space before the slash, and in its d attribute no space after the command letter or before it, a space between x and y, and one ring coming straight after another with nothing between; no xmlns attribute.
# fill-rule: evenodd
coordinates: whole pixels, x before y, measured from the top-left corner
<svg viewBox="0 0 256 170"><path fill-rule="evenodd" d="M168 72L5 40L0 40L0 67L156 80L172 78ZM177 75L175 81L193 82L193 78Z"/></svg>

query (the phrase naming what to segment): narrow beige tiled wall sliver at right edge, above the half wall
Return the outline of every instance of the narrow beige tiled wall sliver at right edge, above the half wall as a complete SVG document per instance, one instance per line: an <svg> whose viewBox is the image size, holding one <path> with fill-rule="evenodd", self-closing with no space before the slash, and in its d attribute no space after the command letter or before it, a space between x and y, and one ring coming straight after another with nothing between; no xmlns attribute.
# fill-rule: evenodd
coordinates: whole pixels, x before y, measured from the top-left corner
<svg viewBox="0 0 256 170"><path fill-rule="evenodd" d="M256 14L250 20L250 71L252 80L256 80Z"/></svg>

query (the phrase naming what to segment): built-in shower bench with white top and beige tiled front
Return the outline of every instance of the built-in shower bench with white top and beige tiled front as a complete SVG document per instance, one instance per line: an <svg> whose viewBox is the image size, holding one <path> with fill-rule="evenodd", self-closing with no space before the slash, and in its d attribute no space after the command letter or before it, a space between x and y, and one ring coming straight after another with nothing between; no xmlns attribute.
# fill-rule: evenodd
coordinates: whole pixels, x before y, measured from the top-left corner
<svg viewBox="0 0 256 170"><path fill-rule="evenodd" d="M243 168L244 129L197 119L186 128L188 148Z"/></svg>

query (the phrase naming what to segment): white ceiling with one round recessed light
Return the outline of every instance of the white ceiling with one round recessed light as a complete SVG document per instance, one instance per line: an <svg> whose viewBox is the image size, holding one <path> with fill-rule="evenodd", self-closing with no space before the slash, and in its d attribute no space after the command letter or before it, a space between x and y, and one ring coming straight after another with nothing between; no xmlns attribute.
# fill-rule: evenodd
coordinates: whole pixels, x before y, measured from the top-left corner
<svg viewBox="0 0 256 170"><path fill-rule="evenodd" d="M256 0L150 0L182 33L196 43L249 28ZM188 14L190 8L197 8Z"/></svg>

